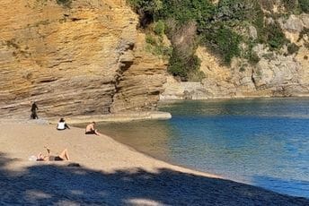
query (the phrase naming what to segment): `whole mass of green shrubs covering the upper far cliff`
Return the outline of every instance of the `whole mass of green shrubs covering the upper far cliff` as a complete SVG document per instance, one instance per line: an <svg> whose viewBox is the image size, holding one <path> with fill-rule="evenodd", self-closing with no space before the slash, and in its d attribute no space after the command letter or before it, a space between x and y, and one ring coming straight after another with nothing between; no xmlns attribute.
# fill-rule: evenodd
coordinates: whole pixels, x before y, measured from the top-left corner
<svg viewBox="0 0 309 206"><path fill-rule="evenodd" d="M260 59L252 49L258 44L272 51L289 46L288 54L298 50L279 26L280 13L272 12L278 1L219 0L214 4L210 0L128 0L128 3L139 13L141 28L154 23L153 33L161 37L165 34L171 40L168 71L182 81L199 73L200 60L195 56L199 45L221 57L223 64L230 64L237 56L256 64ZM308 12L308 0L281 0L280 4L291 13ZM256 30L256 37L252 37L250 27Z"/></svg>

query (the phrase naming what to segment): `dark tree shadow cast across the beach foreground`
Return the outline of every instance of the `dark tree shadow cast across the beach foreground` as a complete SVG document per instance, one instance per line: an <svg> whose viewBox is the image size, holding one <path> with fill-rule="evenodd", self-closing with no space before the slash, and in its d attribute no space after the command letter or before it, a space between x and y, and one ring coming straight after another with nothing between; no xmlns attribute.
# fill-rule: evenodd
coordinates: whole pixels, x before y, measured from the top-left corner
<svg viewBox="0 0 309 206"><path fill-rule="evenodd" d="M1 205L309 205L309 200L162 168L102 173L38 162L22 172L0 153Z"/></svg>

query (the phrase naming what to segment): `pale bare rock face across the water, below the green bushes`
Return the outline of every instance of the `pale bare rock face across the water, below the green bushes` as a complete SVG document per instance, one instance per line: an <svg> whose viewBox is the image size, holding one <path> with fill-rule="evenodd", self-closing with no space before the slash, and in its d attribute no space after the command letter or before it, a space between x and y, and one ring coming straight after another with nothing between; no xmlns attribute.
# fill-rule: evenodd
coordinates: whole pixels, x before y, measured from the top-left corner
<svg viewBox="0 0 309 206"><path fill-rule="evenodd" d="M290 55L285 48L276 54L258 45L253 49L260 58L256 65L234 58L231 66L225 66L207 48L199 47L197 56L206 78L202 82L177 82L169 77L161 99L309 96L309 37L304 32L308 21L309 15L305 13L279 20L287 39L299 50ZM253 39L255 31L250 28ZM305 34L300 39L302 32Z"/></svg>

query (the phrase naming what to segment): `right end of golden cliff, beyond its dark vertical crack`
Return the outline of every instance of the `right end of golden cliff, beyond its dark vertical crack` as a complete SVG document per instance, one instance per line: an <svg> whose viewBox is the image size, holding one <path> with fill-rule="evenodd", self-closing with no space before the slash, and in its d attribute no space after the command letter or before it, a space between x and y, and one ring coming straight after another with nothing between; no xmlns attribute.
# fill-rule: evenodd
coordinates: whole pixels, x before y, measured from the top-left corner
<svg viewBox="0 0 309 206"><path fill-rule="evenodd" d="M134 61L128 70L126 67L120 69L111 112L154 109L159 94L163 92L167 62L145 53L145 38L145 34L137 34L136 47L131 56Z"/></svg>

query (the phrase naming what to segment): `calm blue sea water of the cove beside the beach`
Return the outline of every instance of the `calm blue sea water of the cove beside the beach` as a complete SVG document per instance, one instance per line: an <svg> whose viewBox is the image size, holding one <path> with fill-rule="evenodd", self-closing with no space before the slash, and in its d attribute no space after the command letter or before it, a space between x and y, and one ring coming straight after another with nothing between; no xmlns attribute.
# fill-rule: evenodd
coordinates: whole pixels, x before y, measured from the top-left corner
<svg viewBox="0 0 309 206"><path fill-rule="evenodd" d="M232 99L160 104L166 121L100 124L158 159L309 198L309 99Z"/></svg>

